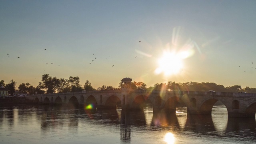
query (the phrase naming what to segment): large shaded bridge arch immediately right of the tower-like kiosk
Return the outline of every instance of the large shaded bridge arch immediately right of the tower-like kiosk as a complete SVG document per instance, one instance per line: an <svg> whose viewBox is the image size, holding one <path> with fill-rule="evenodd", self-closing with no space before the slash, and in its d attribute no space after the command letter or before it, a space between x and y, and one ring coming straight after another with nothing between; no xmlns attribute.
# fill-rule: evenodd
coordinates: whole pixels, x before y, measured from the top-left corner
<svg viewBox="0 0 256 144"><path fill-rule="evenodd" d="M138 95L134 98L131 109L134 110L143 110L146 104L146 101L150 101L147 96L145 95ZM150 101L151 102L151 101ZM152 103L152 102L151 102Z"/></svg>

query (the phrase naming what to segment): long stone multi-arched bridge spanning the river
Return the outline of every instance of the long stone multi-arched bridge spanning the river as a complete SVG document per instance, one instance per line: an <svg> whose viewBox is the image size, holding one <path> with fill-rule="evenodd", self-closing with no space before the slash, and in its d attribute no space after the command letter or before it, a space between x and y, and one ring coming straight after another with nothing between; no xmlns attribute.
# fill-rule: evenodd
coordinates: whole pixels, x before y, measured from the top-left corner
<svg viewBox="0 0 256 144"><path fill-rule="evenodd" d="M153 111L176 112L176 106L183 104L188 114L211 114L217 101L222 102L229 117L255 117L256 94L228 92L187 92L168 90L94 90L58 94L38 94L26 97L35 104L84 106L87 108L116 108L142 110L151 102Z"/></svg>

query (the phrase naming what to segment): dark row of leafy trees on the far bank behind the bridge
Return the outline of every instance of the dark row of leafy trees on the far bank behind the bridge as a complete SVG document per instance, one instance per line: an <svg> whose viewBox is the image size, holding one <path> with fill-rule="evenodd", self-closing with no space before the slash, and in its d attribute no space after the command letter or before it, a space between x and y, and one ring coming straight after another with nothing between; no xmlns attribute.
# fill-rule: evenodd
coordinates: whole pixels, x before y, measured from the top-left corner
<svg viewBox="0 0 256 144"><path fill-rule="evenodd" d="M0 86L4 86L9 90L11 96L16 91L16 84L14 80L10 80L8 84L4 83L4 80L0 81ZM145 90L175 90L175 91L208 91L214 90L216 92L247 92L256 93L256 88L245 87L240 85L224 87L213 82L167 82L157 83L154 86L147 87L144 82L132 82L132 89L145 89ZM92 87L91 83L86 80L84 85L80 84L80 78L78 76L70 76L68 79L52 77L49 74L42 75L42 81L38 83L38 86L34 87L30 83L22 83L18 86L18 91L22 94L52 94L62 92L80 92L82 90L120 90L121 82L117 88L113 86L103 85L98 88Z"/></svg>

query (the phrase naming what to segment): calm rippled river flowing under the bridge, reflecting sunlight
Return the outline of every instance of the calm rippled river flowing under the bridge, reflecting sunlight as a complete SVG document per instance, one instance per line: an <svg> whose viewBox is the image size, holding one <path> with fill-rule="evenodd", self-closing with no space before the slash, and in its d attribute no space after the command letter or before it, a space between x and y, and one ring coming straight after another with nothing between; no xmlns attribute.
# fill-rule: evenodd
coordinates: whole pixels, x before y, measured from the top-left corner
<svg viewBox="0 0 256 144"><path fill-rule="evenodd" d="M1 105L0 144L255 144L255 118L143 111L86 110L68 106Z"/></svg>

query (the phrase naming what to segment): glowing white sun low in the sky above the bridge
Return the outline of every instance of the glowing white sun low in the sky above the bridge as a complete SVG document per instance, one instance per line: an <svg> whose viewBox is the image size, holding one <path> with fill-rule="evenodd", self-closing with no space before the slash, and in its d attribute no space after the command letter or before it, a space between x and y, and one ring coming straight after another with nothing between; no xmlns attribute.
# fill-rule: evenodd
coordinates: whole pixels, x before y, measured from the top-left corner
<svg viewBox="0 0 256 144"><path fill-rule="evenodd" d="M155 73L160 74L163 72L165 76L177 74L182 70L182 59L181 54L164 52L162 57L158 59L158 68L155 70Z"/></svg>

